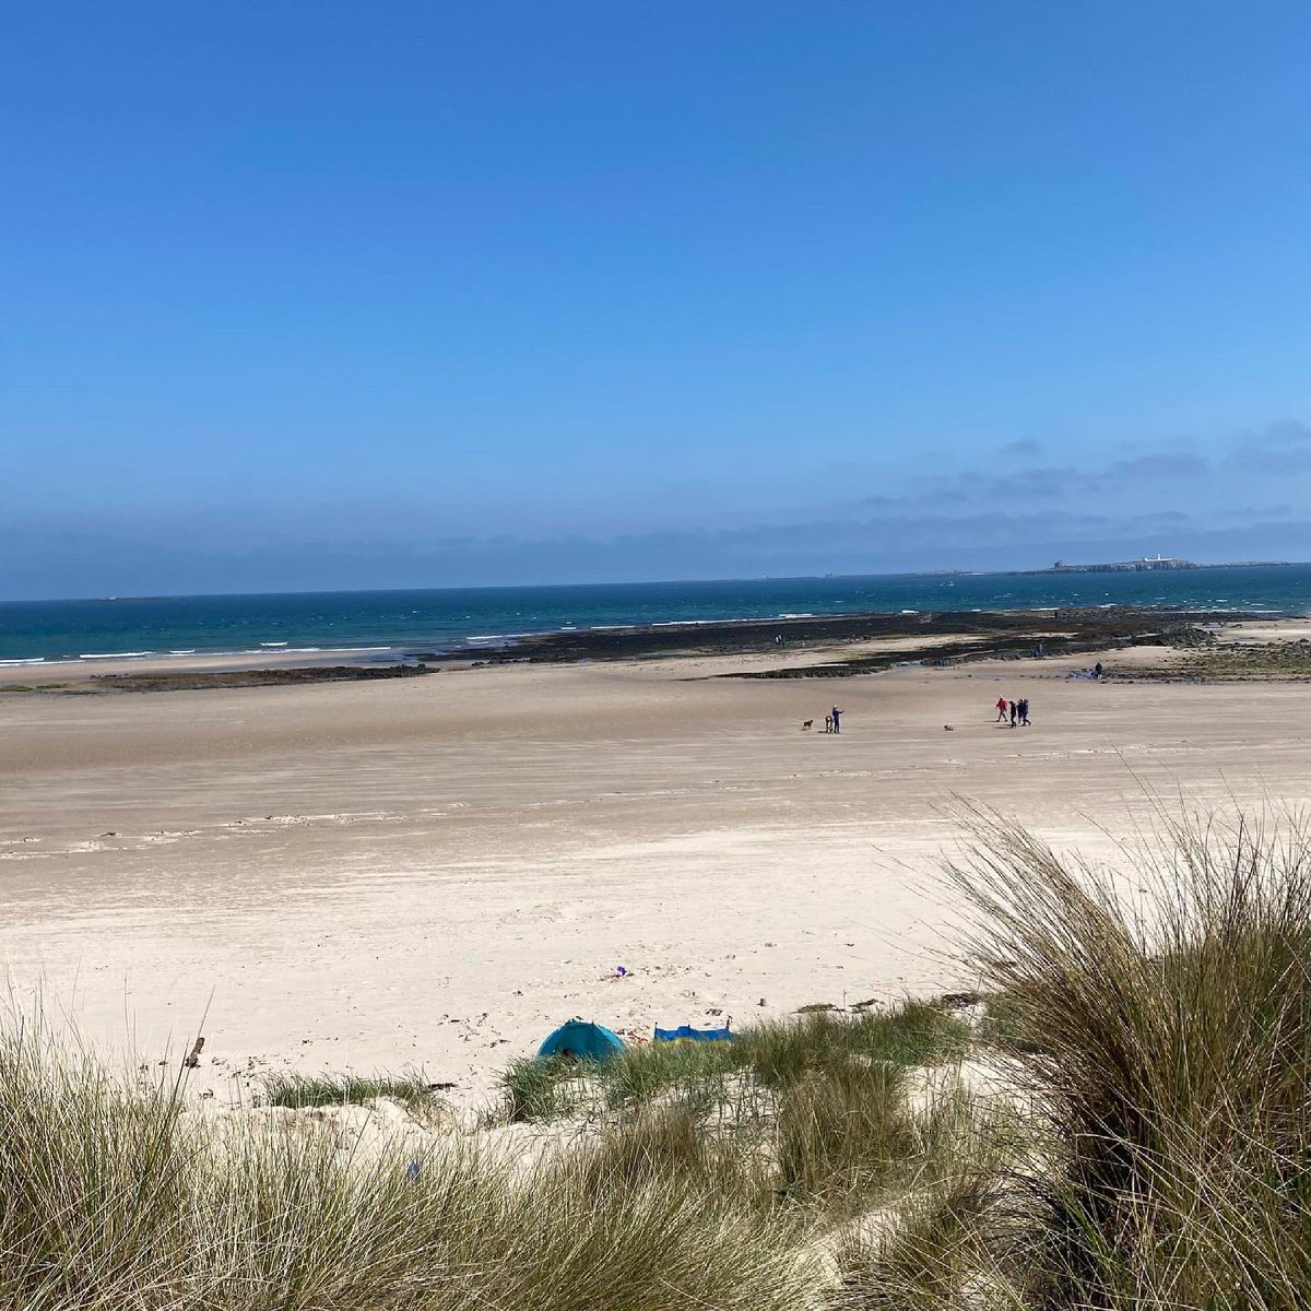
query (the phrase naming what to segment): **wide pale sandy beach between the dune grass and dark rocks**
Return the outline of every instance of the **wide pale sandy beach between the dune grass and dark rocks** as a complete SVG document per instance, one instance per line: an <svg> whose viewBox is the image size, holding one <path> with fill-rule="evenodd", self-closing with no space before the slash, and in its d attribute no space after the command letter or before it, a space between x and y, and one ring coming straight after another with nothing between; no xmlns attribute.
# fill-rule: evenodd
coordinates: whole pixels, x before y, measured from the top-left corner
<svg viewBox="0 0 1311 1311"><path fill-rule="evenodd" d="M1150 789L1311 800L1301 682L1070 678L1087 657L712 676L783 658L0 694L12 998L143 1059L203 1030L216 1096L421 1066L477 1101L576 1015L649 1032L968 986L935 882L953 797L1093 855ZM999 695L1032 726L995 724ZM832 701L840 735L801 732Z"/></svg>

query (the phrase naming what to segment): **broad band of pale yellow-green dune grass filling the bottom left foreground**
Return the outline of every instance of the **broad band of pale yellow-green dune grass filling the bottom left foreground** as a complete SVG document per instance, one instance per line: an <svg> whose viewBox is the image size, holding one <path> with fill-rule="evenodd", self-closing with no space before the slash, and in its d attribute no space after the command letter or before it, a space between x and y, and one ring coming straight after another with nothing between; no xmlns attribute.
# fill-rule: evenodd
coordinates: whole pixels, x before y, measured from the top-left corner
<svg viewBox="0 0 1311 1311"><path fill-rule="evenodd" d="M0 1032L0 1304L783 1311L804 1291L793 1228L704 1180L569 1155L524 1180L454 1135L410 1171L312 1120L215 1133L184 1092Z"/></svg>

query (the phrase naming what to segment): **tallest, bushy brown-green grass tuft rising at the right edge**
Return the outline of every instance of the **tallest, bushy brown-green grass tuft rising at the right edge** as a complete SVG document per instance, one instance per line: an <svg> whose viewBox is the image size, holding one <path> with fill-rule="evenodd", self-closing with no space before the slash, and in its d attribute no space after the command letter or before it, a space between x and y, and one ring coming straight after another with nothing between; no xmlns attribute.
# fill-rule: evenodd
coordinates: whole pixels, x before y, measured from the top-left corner
<svg viewBox="0 0 1311 1311"><path fill-rule="evenodd" d="M1163 819L1121 871L988 827L953 877L1008 1055L1045 1126L1019 1188L1034 1297L1306 1306L1311 1270L1311 834Z"/></svg>

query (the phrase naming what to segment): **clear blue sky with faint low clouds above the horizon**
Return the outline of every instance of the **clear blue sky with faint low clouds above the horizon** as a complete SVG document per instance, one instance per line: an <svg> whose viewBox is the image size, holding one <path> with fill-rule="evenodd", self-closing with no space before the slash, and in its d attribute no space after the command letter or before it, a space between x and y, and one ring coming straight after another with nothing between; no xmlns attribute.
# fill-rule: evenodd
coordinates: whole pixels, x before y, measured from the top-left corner
<svg viewBox="0 0 1311 1311"><path fill-rule="evenodd" d="M1311 558L1311 7L0 45L0 597Z"/></svg>

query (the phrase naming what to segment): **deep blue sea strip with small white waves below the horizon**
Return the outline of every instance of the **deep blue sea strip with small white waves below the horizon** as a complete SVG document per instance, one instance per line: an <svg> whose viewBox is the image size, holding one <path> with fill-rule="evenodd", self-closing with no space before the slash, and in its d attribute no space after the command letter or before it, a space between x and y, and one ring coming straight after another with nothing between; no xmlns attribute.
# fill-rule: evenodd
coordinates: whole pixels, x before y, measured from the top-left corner
<svg viewBox="0 0 1311 1311"><path fill-rule="evenodd" d="M1311 614L1311 564L4 602L0 665L271 652L388 659L570 629L1053 606Z"/></svg>

